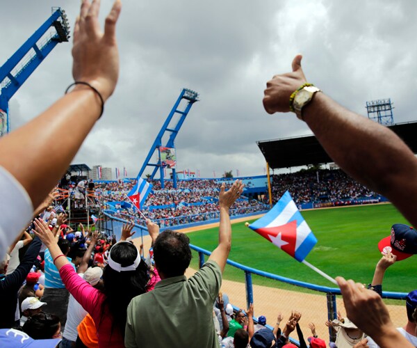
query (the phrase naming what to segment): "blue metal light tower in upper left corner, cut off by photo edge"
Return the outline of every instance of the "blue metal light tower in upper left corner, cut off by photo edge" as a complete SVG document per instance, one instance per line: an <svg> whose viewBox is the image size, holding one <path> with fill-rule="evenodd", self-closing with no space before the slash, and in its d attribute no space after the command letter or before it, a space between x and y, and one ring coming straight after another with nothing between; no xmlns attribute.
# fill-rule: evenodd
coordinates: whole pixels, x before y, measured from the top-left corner
<svg viewBox="0 0 417 348"><path fill-rule="evenodd" d="M0 136L10 132L8 102L59 42L70 38L65 10L52 15L0 68Z"/></svg>

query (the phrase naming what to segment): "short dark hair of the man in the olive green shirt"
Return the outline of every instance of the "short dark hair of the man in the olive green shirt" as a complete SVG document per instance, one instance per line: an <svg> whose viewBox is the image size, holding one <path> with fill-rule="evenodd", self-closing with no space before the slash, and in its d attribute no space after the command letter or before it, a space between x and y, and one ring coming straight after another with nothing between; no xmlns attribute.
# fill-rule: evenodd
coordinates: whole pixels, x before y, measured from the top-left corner
<svg viewBox="0 0 417 348"><path fill-rule="evenodd" d="M191 261L190 239L180 232L163 231L154 244L154 260L165 277L182 276Z"/></svg>

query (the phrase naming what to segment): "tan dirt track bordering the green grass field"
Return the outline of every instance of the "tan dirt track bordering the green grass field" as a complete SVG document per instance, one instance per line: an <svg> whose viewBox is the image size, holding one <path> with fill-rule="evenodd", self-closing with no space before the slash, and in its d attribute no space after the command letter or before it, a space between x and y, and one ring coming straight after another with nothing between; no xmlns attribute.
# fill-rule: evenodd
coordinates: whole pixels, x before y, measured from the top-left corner
<svg viewBox="0 0 417 348"><path fill-rule="evenodd" d="M238 223L242 221L258 219L259 216L249 216L241 219L234 219L231 223ZM178 230L179 232L195 232L198 230L206 230L208 228L215 228L219 226L219 223L210 223L204 226L197 226L193 228L183 228ZM133 239L133 242L139 246L141 243L140 238ZM143 237L144 250L149 250L150 247L149 236ZM232 242L233 247L233 242ZM190 277L195 273L195 269L188 268L186 276ZM239 308L245 308L246 306L246 292L245 283L239 283L231 280L222 281L221 291L229 295L229 299L234 306ZM291 314L291 310L299 310L302 313L302 319L300 321L301 329L304 333L304 338L308 338L311 335L308 324L313 322L316 324L316 331L318 335L325 340L329 337L327 326L325 322L327 320L327 299L325 294L306 294L297 291L280 290L272 287L265 287L261 285L253 285L254 292L254 312L256 316L265 315L267 318L267 324L275 325L275 321L278 313L284 315L284 322ZM345 315L345 309L343 301L341 299L336 300L337 308L341 311L342 315ZM391 319L395 326L404 326L407 323L407 316L404 306L392 306L389 305L389 311ZM282 326L281 326L282 328ZM295 337L296 337L296 333Z"/></svg>

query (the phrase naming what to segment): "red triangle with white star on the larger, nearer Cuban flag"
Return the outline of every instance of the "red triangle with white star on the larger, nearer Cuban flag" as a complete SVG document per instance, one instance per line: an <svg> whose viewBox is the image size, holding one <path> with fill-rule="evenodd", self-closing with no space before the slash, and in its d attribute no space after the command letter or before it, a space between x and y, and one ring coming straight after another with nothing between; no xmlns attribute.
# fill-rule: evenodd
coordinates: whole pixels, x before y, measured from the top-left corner
<svg viewBox="0 0 417 348"><path fill-rule="evenodd" d="M297 221L291 221L282 226L263 227L255 230L263 238L278 246L289 255L295 255L297 242Z"/></svg>

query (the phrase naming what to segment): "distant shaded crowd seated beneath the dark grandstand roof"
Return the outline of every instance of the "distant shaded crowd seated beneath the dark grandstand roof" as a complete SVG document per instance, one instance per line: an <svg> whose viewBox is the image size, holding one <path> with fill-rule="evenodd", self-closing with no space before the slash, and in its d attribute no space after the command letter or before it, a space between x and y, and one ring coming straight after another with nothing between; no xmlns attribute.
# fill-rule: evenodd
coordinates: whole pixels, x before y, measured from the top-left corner
<svg viewBox="0 0 417 348"><path fill-rule="evenodd" d="M277 202L289 191L297 205L302 203L350 204L355 200L374 199L378 195L341 169L304 170L297 173L272 175L272 198Z"/></svg>

